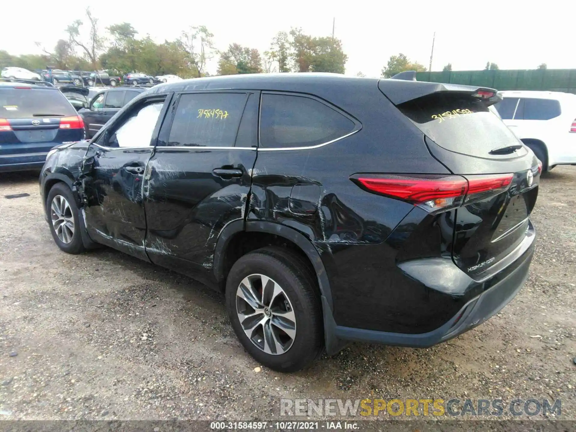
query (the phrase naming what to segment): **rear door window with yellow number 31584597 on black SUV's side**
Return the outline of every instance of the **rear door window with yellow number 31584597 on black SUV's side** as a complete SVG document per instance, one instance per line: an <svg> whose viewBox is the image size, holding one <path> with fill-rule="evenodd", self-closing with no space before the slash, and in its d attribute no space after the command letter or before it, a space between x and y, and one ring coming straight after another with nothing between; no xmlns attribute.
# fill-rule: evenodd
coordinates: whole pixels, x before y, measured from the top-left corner
<svg viewBox="0 0 576 432"><path fill-rule="evenodd" d="M245 93L182 94L167 145L233 147L245 103Z"/></svg>

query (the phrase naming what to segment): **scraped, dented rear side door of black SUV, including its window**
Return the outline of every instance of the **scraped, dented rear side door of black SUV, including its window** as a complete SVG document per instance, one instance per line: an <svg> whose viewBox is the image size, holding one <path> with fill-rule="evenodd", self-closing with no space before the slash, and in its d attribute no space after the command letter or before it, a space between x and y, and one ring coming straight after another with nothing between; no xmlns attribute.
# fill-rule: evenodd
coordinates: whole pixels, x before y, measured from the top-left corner
<svg viewBox="0 0 576 432"><path fill-rule="evenodd" d="M175 95L144 178L152 262L181 272L194 273L189 264L210 269L221 230L244 220L258 102L257 92Z"/></svg>

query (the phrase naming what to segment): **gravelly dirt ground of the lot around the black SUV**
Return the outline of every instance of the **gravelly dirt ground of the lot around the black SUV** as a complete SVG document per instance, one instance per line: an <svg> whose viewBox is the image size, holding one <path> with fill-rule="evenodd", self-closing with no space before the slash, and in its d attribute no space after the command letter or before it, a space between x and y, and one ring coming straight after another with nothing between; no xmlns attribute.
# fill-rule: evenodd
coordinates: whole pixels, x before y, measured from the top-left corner
<svg viewBox="0 0 576 432"><path fill-rule="evenodd" d="M112 249L60 252L37 176L1 175L0 419L270 420L282 398L320 397L562 399L576 419L575 209L576 167L543 177L528 282L480 327L279 374L255 372L218 294Z"/></svg>

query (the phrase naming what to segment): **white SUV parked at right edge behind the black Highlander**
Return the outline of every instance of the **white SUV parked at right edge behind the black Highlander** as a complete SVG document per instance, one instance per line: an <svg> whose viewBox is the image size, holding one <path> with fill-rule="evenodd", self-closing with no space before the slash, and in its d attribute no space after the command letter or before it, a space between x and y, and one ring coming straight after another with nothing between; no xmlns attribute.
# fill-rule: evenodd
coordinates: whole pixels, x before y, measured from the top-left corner
<svg viewBox="0 0 576 432"><path fill-rule="evenodd" d="M502 121L542 162L576 165L576 94L510 90L495 105Z"/></svg>

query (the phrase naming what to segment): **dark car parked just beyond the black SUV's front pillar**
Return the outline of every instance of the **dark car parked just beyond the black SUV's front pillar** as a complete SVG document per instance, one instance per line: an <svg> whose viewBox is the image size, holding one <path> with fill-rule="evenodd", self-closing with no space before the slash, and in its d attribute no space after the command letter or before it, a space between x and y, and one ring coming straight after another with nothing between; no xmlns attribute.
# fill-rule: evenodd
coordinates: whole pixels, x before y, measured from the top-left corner
<svg viewBox="0 0 576 432"><path fill-rule="evenodd" d="M88 90L88 89L87 89ZM78 113L84 119L86 139L90 139L134 97L147 89L142 88L108 88L96 93L86 109Z"/></svg>

